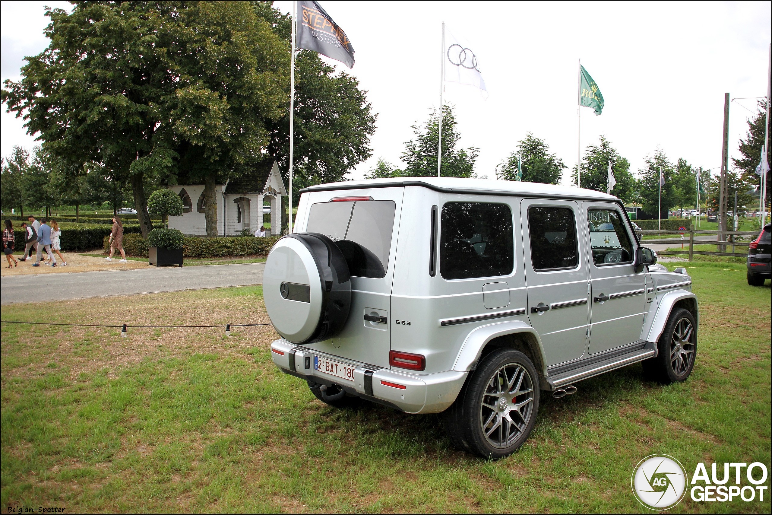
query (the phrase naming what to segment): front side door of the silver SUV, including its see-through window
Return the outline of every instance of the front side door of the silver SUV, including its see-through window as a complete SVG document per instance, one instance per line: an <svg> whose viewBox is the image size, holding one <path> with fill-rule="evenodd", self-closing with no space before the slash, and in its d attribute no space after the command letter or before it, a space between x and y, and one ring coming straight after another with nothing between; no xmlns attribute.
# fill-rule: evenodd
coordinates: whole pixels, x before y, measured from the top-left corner
<svg viewBox="0 0 772 515"><path fill-rule="evenodd" d="M635 237L618 205L583 202L587 218L591 298L590 354L632 344L641 337L646 273L635 273Z"/></svg>

